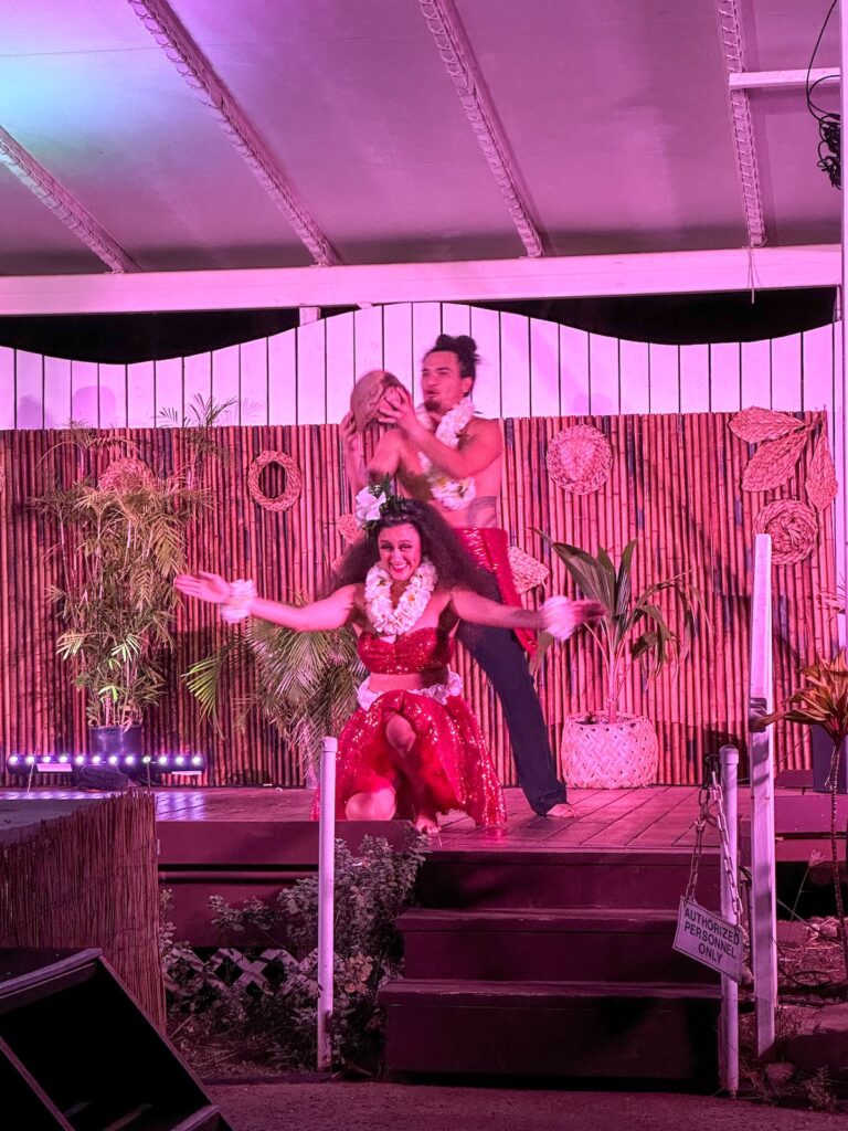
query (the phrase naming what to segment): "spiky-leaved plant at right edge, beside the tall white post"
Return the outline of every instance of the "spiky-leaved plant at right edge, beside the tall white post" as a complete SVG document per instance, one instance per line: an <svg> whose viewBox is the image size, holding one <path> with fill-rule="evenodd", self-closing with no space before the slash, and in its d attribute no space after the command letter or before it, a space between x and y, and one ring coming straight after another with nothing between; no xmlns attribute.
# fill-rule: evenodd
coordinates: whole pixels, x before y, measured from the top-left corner
<svg viewBox="0 0 848 1131"><path fill-rule="evenodd" d="M846 933L845 904L839 875L839 841L837 839L838 792L840 768L848 742L848 664L842 648L833 659L820 657L802 671L805 687L794 691L777 710L764 715L753 724L758 731L771 723L799 723L802 726L821 728L831 743L830 772L830 853L833 877L833 896L839 920L839 936L842 944L845 978L848 983L848 933Z"/></svg>

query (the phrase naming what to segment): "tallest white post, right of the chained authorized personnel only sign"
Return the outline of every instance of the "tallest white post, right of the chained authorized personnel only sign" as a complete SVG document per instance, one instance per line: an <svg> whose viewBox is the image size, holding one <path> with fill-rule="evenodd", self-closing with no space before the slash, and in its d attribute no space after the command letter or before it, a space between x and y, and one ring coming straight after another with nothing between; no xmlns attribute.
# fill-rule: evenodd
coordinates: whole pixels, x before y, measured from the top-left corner
<svg viewBox="0 0 848 1131"><path fill-rule="evenodd" d="M758 534L751 602L749 720L773 708L771 661L771 537ZM751 946L756 1009L756 1054L775 1043L777 1010L777 897L775 891L775 727L749 731L751 760Z"/></svg>

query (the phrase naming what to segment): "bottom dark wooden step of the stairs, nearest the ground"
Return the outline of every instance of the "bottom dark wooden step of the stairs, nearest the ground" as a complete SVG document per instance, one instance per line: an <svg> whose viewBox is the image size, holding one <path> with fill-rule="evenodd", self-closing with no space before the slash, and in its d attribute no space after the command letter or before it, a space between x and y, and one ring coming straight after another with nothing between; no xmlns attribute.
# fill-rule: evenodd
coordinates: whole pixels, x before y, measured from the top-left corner
<svg viewBox="0 0 848 1131"><path fill-rule="evenodd" d="M380 1001L395 1073L716 1085L718 986L404 979Z"/></svg>

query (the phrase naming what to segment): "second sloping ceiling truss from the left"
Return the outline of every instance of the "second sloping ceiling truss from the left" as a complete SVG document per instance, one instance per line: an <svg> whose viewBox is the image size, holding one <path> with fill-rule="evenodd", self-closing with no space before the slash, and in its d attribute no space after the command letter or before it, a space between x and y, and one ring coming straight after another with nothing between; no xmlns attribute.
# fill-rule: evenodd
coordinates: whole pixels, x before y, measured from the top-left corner
<svg viewBox="0 0 848 1131"><path fill-rule="evenodd" d="M147 31L223 127L256 179L294 228L317 264L340 257L288 183L283 167L240 104L165 0L128 0Z"/></svg>

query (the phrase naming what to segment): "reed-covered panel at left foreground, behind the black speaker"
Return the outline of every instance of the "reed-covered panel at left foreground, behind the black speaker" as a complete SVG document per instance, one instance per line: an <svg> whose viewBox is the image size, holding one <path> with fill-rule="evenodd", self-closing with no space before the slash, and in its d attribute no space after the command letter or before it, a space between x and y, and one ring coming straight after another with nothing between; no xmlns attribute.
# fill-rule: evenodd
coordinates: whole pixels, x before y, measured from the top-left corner
<svg viewBox="0 0 848 1131"><path fill-rule="evenodd" d="M153 794L132 789L0 845L0 947L99 948L164 1029L155 822Z"/></svg>

